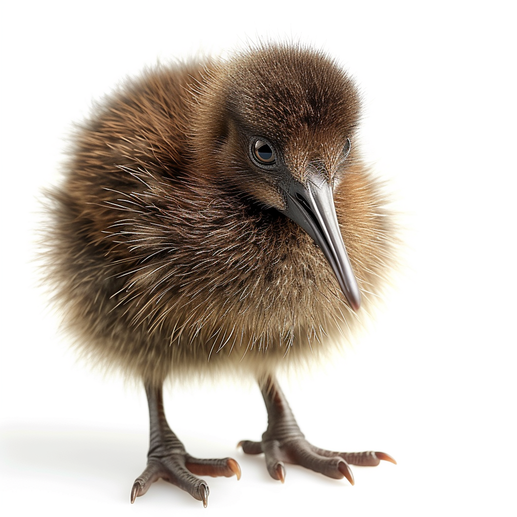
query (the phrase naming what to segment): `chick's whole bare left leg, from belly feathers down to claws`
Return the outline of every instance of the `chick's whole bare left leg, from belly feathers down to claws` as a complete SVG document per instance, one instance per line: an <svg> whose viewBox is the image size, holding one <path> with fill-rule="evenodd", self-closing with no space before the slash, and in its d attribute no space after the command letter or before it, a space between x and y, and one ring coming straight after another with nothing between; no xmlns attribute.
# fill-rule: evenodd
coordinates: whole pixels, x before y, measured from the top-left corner
<svg viewBox="0 0 517 517"><path fill-rule="evenodd" d="M205 460L192 457L172 432L163 410L162 388L146 385L147 401L149 403L150 439L147 453L147 467L136 478L131 489L131 503L136 497L144 495L151 483L159 478L169 481L192 497L203 501L206 508L208 499L208 484L192 474L200 476L233 475L240 478L240 467L232 458Z"/></svg>

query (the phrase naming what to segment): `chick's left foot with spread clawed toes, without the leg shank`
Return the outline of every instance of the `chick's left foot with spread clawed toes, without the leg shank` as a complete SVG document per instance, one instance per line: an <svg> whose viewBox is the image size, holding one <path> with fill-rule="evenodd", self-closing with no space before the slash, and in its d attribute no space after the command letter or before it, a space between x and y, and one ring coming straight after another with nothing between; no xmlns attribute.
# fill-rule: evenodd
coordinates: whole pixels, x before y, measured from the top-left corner
<svg viewBox="0 0 517 517"><path fill-rule="evenodd" d="M232 458L207 460L194 458L185 449L164 451L149 451L147 467L136 478L131 489L131 504L136 497L144 495L151 483L162 478L180 489L188 492L194 499L203 501L206 508L210 490L208 484L199 476L237 476L240 479L239 464Z"/></svg>

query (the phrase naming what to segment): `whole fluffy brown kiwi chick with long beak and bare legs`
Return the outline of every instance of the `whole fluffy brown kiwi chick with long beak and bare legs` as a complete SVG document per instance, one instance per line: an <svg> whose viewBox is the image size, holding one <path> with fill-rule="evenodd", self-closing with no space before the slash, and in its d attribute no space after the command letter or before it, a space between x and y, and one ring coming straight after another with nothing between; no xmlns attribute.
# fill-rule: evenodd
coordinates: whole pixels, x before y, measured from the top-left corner
<svg viewBox="0 0 517 517"><path fill-rule="evenodd" d="M75 132L49 194L48 279L82 351L145 386L150 446L131 503L163 478L206 506L197 476L240 477L170 429L169 377L254 376L268 425L240 446L276 480L295 463L353 484L350 464L394 462L308 443L276 380L346 339L393 263L359 117L334 60L267 43L148 69Z"/></svg>

